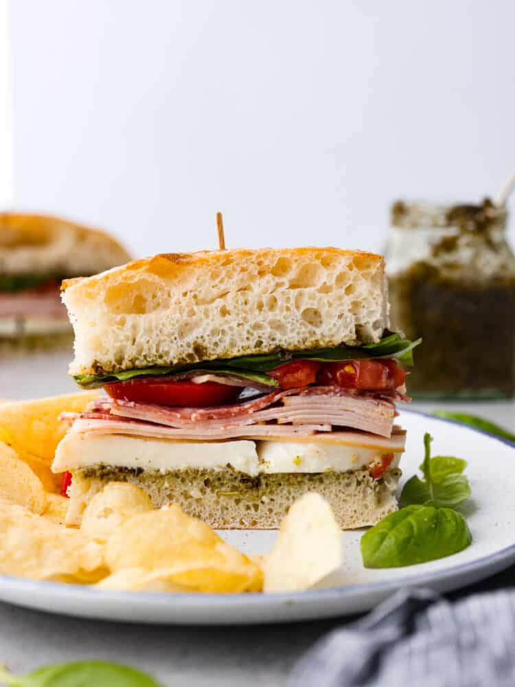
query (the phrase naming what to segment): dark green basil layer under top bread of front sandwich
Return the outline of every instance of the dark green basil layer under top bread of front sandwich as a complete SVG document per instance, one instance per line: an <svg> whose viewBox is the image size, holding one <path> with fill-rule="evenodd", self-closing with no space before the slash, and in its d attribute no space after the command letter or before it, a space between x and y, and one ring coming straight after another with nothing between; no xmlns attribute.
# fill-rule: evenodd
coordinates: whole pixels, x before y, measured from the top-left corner
<svg viewBox="0 0 515 687"><path fill-rule="evenodd" d="M198 374L227 374L248 379L260 385L277 387L277 381L266 374L279 365L293 360L314 360L338 362L345 360L369 360L374 358L396 358L404 365L413 365L413 348L422 339L407 341L399 334L387 333L378 343L365 346L336 346L334 348L313 348L310 350L280 350L264 355L245 355L236 358L209 360L194 365L172 365L170 367L149 367L106 374L79 374L74 377L82 387L93 388L110 382L127 381L137 376L159 376L197 372Z"/></svg>

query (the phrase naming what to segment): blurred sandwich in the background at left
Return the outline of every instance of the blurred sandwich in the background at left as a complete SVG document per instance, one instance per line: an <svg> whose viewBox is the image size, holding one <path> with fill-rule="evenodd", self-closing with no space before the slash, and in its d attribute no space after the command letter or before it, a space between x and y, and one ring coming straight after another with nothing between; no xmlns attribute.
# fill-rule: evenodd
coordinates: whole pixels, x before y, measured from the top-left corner
<svg viewBox="0 0 515 687"><path fill-rule="evenodd" d="M0 350L71 345L65 277L130 260L117 240L57 217L0 213Z"/></svg>

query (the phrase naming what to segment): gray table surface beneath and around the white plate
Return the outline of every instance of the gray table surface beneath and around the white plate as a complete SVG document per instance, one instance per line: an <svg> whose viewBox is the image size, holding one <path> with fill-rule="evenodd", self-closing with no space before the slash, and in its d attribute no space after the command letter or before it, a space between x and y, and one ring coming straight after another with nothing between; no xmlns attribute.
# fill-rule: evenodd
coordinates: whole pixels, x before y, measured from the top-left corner
<svg viewBox="0 0 515 687"><path fill-rule="evenodd" d="M0 363L0 398L65 393L68 356ZM413 403L431 412L461 409L515 429L515 403ZM472 591L515 586L515 566ZM0 662L25 672L48 662L105 658L139 666L165 687L278 687L314 641L350 619L253 627L162 627L52 616L0 603Z"/></svg>

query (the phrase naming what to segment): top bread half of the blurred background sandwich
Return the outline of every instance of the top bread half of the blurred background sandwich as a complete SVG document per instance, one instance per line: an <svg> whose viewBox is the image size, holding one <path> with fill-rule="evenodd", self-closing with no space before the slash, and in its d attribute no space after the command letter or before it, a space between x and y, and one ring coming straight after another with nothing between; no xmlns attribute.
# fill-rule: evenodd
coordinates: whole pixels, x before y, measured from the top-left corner
<svg viewBox="0 0 515 687"><path fill-rule="evenodd" d="M0 213L0 273L89 275L130 260L99 229L59 217Z"/></svg>

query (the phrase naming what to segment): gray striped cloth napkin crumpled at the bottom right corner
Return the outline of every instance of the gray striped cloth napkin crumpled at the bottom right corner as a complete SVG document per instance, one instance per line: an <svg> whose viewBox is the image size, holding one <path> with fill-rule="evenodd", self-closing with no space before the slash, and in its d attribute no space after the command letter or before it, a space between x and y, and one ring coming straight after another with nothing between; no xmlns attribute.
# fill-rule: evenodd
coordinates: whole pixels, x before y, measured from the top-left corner
<svg viewBox="0 0 515 687"><path fill-rule="evenodd" d="M334 630L297 664L289 687L514 687L515 592L455 603L407 589Z"/></svg>

